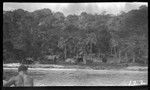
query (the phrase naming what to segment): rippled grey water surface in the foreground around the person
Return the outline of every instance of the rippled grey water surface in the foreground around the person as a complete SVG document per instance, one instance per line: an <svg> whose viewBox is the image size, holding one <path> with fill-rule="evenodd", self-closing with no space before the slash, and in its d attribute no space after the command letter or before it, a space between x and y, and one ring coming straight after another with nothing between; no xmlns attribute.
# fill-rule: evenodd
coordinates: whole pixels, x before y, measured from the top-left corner
<svg viewBox="0 0 150 90"><path fill-rule="evenodd" d="M10 78L16 68L4 68ZM132 86L147 85L148 71L30 68L34 86Z"/></svg>

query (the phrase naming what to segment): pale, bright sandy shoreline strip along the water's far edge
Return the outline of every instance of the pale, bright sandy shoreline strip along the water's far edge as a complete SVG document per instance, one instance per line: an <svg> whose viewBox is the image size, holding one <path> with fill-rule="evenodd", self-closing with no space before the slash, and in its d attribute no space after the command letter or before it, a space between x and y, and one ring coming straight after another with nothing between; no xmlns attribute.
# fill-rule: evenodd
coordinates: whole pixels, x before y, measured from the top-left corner
<svg viewBox="0 0 150 90"><path fill-rule="evenodd" d="M90 66L78 66L78 65L28 65L29 70L85 70L85 71L148 71L148 66L128 66L128 67L122 67L122 68L92 68ZM3 69L17 69L19 67L19 64L3 64Z"/></svg>

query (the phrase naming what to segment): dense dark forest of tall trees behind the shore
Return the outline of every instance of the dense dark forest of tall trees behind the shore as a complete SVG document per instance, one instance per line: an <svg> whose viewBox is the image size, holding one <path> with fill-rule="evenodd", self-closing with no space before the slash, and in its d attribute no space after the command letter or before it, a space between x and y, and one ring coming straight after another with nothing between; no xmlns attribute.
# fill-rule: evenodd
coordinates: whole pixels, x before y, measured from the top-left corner
<svg viewBox="0 0 150 90"><path fill-rule="evenodd" d="M47 63L47 55L58 56L55 63L90 57L147 64L148 7L117 16L86 12L65 16L50 9L3 11L3 62L30 57Z"/></svg>

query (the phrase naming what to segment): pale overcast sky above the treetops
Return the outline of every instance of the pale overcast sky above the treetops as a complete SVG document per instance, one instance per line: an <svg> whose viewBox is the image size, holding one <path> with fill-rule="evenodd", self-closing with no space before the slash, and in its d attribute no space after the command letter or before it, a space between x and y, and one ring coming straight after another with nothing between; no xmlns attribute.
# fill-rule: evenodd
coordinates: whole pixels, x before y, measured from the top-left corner
<svg viewBox="0 0 150 90"><path fill-rule="evenodd" d="M100 14L106 11L109 14L119 14L121 11L130 11L138 9L141 5L148 6L146 2L128 2L128 3L3 3L3 10L24 9L27 11L35 11L38 9L49 8L53 12L63 12L64 15L80 14L87 12L92 14Z"/></svg>

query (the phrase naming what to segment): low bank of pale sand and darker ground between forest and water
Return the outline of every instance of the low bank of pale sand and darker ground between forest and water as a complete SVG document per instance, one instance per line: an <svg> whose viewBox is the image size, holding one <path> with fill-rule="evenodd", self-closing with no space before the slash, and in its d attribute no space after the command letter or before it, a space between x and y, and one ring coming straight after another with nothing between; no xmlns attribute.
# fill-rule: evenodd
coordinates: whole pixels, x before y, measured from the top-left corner
<svg viewBox="0 0 150 90"><path fill-rule="evenodd" d="M19 63L3 64L3 68L18 68ZM30 69L55 70L55 69L88 69L88 70L128 70L128 71L148 71L147 66L119 66L119 65L55 65L55 64L33 64L28 65Z"/></svg>

